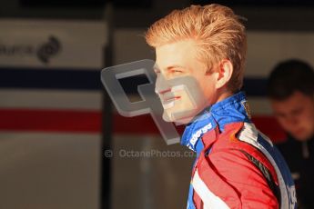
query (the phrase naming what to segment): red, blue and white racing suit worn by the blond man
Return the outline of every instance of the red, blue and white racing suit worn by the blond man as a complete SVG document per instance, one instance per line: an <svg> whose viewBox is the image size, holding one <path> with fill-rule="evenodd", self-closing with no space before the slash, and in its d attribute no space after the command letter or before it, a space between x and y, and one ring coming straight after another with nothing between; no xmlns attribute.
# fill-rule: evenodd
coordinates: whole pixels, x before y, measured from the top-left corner
<svg viewBox="0 0 314 209"><path fill-rule="evenodd" d="M187 125L181 144L198 155L187 209L297 207L289 168L251 123L244 93L205 109Z"/></svg>

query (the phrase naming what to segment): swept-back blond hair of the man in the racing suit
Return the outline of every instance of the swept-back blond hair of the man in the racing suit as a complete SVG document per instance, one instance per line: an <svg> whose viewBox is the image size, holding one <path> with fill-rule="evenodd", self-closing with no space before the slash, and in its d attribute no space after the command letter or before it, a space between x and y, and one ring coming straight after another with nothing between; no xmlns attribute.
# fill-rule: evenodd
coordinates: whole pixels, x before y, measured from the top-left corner
<svg viewBox="0 0 314 209"><path fill-rule="evenodd" d="M174 10L151 25L146 33L147 44L153 47L185 39L195 40L197 58L208 66L207 74L228 59L233 74L228 89L237 92L243 83L247 54L245 26L240 17L223 5L191 5Z"/></svg>

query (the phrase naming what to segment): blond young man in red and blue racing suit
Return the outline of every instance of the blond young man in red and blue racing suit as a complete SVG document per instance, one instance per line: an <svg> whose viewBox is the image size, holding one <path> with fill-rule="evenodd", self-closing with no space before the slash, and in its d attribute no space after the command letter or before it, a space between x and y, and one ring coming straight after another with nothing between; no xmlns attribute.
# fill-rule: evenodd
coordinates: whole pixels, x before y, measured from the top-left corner
<svg viewBox="0 0 314 209"><path fill-rule="evenodd" d="M289 168L239 92L247 42L238 15L192 5L151 25L146 39L163 116L187 124L181 143L198 153L187 208L295 208Z"/></svg>

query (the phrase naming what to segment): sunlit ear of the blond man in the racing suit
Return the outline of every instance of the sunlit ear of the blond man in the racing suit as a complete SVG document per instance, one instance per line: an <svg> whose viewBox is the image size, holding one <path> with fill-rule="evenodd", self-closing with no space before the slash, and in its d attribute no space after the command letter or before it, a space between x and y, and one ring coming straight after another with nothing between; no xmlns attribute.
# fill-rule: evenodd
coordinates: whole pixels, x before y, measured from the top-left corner
<svg viewBox="0 0 314 209"><path fill-rule="evenodd" d="M218 65L216 88L227 85L233 73L233 65L228 59L224 59Z"/></svg>

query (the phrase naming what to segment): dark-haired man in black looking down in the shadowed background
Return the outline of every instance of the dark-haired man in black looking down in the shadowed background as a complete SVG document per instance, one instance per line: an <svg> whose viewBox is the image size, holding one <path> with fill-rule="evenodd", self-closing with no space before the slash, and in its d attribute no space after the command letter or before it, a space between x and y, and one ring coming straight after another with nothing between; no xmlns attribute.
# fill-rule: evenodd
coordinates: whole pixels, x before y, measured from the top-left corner
<svg viewBox="0 0 314 209"><path fill-rule="evenodd" d="M276 65L268 78L273 112L288 138L279 144L296 182L299 208L314 208L314 71L300 60Z"/></svg>

